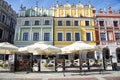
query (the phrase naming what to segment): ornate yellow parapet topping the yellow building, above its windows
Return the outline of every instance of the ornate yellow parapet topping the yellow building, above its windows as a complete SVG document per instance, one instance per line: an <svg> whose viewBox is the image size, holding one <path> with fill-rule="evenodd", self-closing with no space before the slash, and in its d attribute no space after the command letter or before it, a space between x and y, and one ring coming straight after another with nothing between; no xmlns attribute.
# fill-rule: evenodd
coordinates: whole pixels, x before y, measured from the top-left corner
<svg viewBox="0 0 120 80"><path fill-rule="evenodd" d="M60 5L54 9L55 17L66 17L67 15L72 17L93 17L93 8L88 5Z"/></svg>

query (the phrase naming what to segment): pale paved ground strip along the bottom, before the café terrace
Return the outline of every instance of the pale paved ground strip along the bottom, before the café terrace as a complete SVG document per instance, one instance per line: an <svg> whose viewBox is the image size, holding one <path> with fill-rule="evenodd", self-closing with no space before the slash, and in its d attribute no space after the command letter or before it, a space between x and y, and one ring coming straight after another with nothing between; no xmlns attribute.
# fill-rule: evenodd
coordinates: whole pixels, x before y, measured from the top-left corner
<svg viewBox="0 0 120 80"><path fill-rule="evenodd" d="M120 71L66 72L66 73L26 73L0 72L0 80L120 80Z"/></svg>

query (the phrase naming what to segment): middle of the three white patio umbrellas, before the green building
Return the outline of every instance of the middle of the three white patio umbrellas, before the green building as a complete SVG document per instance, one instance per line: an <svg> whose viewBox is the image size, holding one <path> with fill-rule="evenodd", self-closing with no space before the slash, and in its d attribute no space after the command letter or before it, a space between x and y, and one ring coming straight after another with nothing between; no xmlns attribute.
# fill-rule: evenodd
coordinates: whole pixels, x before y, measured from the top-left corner
<svg viewBox="0 0 120 80"><path fill-rule="evenodd" d="M26 47L21 47L19 51L30 52L33 54L55 54L60 52L61 49L52 45L47 45L43 42L37 42Z"/></svg>

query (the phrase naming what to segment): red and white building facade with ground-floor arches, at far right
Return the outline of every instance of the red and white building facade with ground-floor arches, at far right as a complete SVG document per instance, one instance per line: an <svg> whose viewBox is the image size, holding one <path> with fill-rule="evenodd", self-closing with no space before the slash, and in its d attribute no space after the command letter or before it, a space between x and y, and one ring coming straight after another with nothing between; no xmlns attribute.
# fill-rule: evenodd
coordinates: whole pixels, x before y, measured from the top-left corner
<svg viewBox="0 0 120 80"><path fill-rule="evenodd" d="M102 47L103 61L120 62L120 11L102 9L95 19L96 45ZM105 66L106 67L106 66Z"/></svg>

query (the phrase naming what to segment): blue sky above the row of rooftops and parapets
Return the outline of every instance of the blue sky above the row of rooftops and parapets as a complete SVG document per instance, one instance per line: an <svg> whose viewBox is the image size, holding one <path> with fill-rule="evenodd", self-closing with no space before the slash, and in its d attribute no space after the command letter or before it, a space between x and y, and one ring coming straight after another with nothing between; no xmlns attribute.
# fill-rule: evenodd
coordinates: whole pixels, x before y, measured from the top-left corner
<svg viewBox="0 0 120 80"><path fill-rule="evenodd" d="M37 0L5 0L9 5L18 13L21 4L26 8L35 7ZM43 8L49 8L51 5L54 5L57 0L38 0L38 6ZM65 4L66 0L58 0L59 3ZM89 0L68 0L69 4L78 4L78 2L85 5ZM108 7L112 7L113 10L120 9L120 0L90 0L91 5L93 5L96 10L104 9L107 10Z"/></svg>

